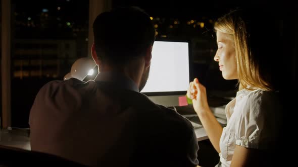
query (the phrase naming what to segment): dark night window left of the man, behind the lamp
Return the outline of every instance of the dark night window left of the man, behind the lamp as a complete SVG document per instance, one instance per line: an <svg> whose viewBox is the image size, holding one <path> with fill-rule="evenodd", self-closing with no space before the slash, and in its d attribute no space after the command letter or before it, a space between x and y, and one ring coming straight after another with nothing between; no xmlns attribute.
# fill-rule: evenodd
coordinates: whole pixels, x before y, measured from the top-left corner
<svg viewBox="0 0 298 167"><path fill-rule="evenodd" d="M88 8L86 0L12 1L13 127L28 127L39 89L63 80L73 62L87 55Z"/></svg>

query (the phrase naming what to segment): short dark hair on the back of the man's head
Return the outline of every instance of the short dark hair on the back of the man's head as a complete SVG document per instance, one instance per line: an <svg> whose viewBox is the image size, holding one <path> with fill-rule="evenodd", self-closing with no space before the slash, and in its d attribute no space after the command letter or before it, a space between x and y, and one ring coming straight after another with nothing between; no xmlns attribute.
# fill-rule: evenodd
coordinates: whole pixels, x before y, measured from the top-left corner
<svg viewBox="0 0 298 167"><path fill-rule="evenodd" d="M98 15L93 33L97 57L110 64L125 64L142 56L155 40L150 17L136 7L117 8Z"/></svg>

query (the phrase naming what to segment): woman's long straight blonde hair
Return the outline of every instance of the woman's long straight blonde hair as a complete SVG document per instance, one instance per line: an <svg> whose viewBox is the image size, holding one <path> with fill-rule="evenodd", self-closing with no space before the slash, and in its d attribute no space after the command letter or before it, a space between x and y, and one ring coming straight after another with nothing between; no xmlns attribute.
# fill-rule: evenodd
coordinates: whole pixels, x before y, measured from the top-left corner
<svg viewBox="0 0 298 167"><path fill-rule="evenodd" d="M272 86L266 78L266 74L260 72L260 64L257 56L252 53L246 23L242 20L239 11L232 11L218 19L215 31L230 34L234 38L235 53L238 73L239 90L260 88L272 91Z"/></svg>

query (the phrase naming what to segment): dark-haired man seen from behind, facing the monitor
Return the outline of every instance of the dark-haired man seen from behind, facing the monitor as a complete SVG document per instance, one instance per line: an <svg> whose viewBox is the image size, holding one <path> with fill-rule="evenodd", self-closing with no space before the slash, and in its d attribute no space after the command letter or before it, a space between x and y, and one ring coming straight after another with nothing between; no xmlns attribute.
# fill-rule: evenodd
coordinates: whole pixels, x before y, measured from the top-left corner
<svg viewBox="0 0 298 167"><path fill-rule="evenodd" d="M196 166L192 125L139 91L148 78L155 29L134 7L93 23L94 80L51 81L30 112L31 149L91 166Z"/></svg>

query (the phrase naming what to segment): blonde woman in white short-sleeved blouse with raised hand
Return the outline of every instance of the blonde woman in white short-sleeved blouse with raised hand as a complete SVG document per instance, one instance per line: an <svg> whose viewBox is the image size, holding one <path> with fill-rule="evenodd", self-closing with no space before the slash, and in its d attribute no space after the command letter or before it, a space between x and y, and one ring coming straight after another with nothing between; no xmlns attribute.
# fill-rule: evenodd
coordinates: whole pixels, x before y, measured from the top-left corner
<svg viewBox="0 0 298 167"><path fill-rule="evenodd" d="M218 49L214 60L223 78L238 79L239 84L236 98L226 105L226 127L219 124L210 110L206 88L197 78L190 82L187 91L219 153L217 166L270 166L274 163L271 153L281 125L277 78L280 71L275 66L278 63L275 56L280 56L277 48L280 35L278 19L260 12L268 16L236 10L215 24Z"/></svg>

